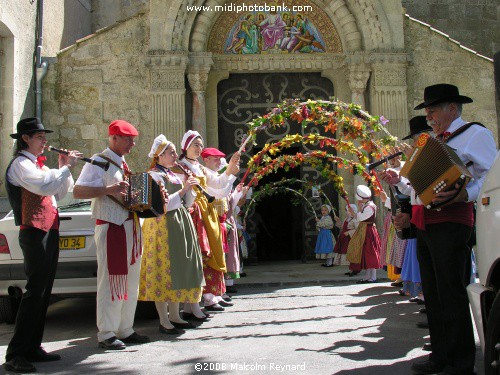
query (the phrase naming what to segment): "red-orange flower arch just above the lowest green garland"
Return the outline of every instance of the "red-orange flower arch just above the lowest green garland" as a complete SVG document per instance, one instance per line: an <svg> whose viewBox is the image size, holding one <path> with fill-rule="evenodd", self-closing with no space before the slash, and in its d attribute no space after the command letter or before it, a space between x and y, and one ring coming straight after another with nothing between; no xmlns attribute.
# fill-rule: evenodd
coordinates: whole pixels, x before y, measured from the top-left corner
<svg viewBox="0 0 500 375"><path fill-rule="evenodd" d="M330 162L330 163L326 163ZM377 183L376 177L370 175L365 170L365 165L342 158L340 156L328 154L326 151L312 151L306 154L297 153L295 155L281 155L275 159L269 160L265 166L258 169L249 182L249 186L258 184L264 176L277 172L280 168L288 171L290 168L295 168L301 164L308 163L313 168L317 169L323 177L332 181L333 187L345 199L347 193L344 189L343 178L335 173L332 165L336 164L339 168L345 168L352 174L360 175L364 180L373 186L376 192L380 191L380 186Z"/></svg>

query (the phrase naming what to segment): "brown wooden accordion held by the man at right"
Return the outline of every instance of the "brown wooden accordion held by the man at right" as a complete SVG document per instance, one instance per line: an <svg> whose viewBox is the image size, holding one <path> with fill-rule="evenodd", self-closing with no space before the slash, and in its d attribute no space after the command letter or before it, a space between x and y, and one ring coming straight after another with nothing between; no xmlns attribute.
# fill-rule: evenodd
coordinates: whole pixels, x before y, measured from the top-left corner
<svg viewBox="0 0 500 375"><path fill-rule="evenodd" d="M457 193L465 189L472 175L455 151L428 134L421 135L415 144L413 154L401 169L402 176L410 180L415 193L428 209L453 203L456 196L440 204L432 204L436 194L452 190L460 185Z"/></svg>

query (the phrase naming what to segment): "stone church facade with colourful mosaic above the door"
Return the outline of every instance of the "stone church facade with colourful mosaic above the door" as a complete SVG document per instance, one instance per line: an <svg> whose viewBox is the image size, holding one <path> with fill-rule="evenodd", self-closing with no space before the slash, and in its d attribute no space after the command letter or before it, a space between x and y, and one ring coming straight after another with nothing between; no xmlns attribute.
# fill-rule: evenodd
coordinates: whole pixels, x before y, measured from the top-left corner
<svg viewBox="0 0 500 375"><path fill-rule="evenodd" d="M92 5L97 3L104 7ZM244 137L247 118L294 94L359 103L388 118L389 131L401 137L408 132L408 119L420 114L413 107L422 101L424 87L441 82L456 84L472 97L464 118L483 122L498 137L491 59L404 15L401 0L289 0L288 7L302 8L287 17L282 11L214 11L215 6L242 6L241 0L132 3L133 14L46 58L43 121L56 130L54 146L86 155L99 152L107 143L107 125L123 118L140 131L129 157L135 170L148 165L156 135L165 134L179 148L187 128L199 131L206 145L232 153ZM262 38L243 45L242 24L259 25L276 13L285 23L293 18L299 30L308 20L303 44L286 44L286 35L270 28L272 45ZM97 20L106 24L104 16ZM2 134L15 122L4 124ZM252 148L243 160L251 155ZM2 152L2 170L7 163ZM300 177L305 175L318 178L307 168L300 171ZM344 178L352 194L358 182L351 175ZM302 239L310 242L314 224L310 214L302 218L309 223Z"/></svg>

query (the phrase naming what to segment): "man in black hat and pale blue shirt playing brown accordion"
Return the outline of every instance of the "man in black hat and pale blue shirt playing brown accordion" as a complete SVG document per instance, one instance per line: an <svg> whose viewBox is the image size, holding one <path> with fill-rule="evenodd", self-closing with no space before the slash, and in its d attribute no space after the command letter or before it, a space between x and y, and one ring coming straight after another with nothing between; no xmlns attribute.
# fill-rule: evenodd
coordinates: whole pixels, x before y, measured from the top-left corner
<svg viewBox="0 0 500 375"><path fill-rule="evenodd" d="M438 193L433 200L438 204L456 197L454 203L439 210L421 206L417 214L413 212L432 346L428 360L412 365L417 374L473 374L474 371L476 346L464 282L470 261L467 243L474 226L474 201L497 149L488 129L462 120L462 104L471 102L471 98L459 94L456 86L438 84L426 87L424 102L415 107L415 110L425 109L427 123L436 137L455 149L474 177L461 194L457 195L456 186ZM400 181L394 173L382 178L390 183Z"/></svg>

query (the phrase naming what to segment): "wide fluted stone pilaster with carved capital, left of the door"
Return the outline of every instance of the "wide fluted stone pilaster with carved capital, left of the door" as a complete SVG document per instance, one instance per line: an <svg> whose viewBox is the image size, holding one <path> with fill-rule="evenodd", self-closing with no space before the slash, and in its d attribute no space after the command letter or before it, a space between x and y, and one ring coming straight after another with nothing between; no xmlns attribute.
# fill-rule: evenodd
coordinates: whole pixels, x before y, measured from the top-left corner
<svg viewBox="0 0 500 375"><path fill-rule="evenodd" d="M165 134L177 147L186 131L185 52L155 50L146 58L151 76L151 122L155 136Z"/></svg>

